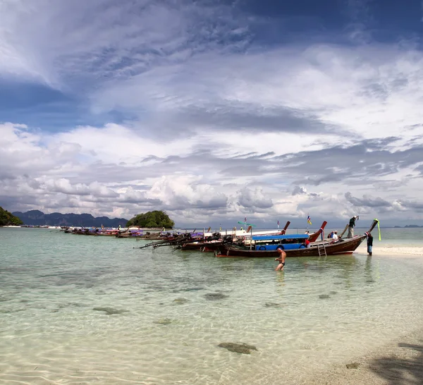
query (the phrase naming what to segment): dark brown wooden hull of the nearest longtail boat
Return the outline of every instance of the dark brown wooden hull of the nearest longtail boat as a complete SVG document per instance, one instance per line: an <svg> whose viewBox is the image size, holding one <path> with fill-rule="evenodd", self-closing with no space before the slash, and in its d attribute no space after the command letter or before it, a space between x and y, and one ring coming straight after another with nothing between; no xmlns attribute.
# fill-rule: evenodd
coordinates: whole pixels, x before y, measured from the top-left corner
<svg viewBox="0 0 423 385"><path fill-rule="evenodd" d="M326 255L338 255L338 254L352 254L360 243L366 238L366 236L357 236L349 240L339 240L335 243L331 243L325 246ZM320 253L319 253L320 251ZM324 255L323 248L317 247L317 245L311 245L310 247L304 247L295 250L286 250L286 257L320 257ZM247 250L243 247L236 247L233 245L223 245L220 248L220 253L216 254L216 257L278 257L279 254L276 250Z"/></svg>

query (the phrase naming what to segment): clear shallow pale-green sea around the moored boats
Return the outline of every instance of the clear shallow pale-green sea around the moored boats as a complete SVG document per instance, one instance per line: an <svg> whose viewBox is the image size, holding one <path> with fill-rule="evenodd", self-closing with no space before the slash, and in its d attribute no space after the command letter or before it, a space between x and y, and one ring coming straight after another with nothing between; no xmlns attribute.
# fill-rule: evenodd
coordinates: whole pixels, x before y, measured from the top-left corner
<svg viewBox="0 0 423 385"><path fill-rule="evenodd" d="M423 258L378 247L423 228L285 271L145 243L0 228L0 384L307 384L422 326Z"/></svg>

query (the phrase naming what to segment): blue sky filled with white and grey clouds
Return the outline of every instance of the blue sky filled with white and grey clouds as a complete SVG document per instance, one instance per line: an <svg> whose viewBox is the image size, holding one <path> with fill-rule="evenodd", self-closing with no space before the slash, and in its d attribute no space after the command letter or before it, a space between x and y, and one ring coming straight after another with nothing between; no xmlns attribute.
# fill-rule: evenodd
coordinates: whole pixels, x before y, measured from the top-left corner
<svg viewBox="0 0 423 385"><path fill-rule="evenodd" d="M1 0L0 205L423 225L423 2Z"/></svg>

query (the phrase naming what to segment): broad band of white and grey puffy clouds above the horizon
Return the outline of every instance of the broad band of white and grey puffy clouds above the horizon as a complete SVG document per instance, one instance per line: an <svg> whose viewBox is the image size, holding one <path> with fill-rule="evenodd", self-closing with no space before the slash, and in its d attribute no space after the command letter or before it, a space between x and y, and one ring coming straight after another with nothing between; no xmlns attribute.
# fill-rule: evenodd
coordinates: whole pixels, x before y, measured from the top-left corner
<svg viewBox="0 0 423 385"><path fill-rule="evenodd" d="M348 218L355 213L374 216L372 210L412 214L419 209L416 203L412 206L415 200L410 193L402 199L385 199L374 198L371 193L357 198L348 190L343 192L351 185L370 192L381 183L389 188L381 187L379 193L396 193L402 184L384 178L403 173L400 179L407 181L409 191L418 193L421 179L405 177L405 173L418 175L419 149L389 151L389 146L396 143L392 138L282 155L248 152L232 157L217 149L179 157L165 152L157 157L146 152L140 157L137 140L141 143L142 138L133 137L131 142L128 137L124 155L121 147L114 146L116 132L122 133L118 140L123 140L126 133L130 135L120 126L75 128L48 138L23 126L7 124L1 128L4 138L8 138L3 147L8 149L8 156L15 157L23 148L26 154L42 154L40 164L33 160L28 163L26 156L16 157L8 166L13 178L4 178L0 186L1 204L23 211L42 208L129 217L137 212L166 209L171 215L183 216L185 223L195 224L206 217L212 221L221 221L221 216L238 221L245 214L261 223L269 216L295 218L307 212L328 219ZM102 139L97 135L102 135ZM97 152L94 142L102 142ZM374 159L379 166L375 166ZM341 169L343 177L333 178ZM199 175L204 172L207 176ZM227 177L224 185L222 175ZM320 190L296 184L293 176L302 176L302 183L320 178ZM250 181L248 185L246 181Z"/></svg>

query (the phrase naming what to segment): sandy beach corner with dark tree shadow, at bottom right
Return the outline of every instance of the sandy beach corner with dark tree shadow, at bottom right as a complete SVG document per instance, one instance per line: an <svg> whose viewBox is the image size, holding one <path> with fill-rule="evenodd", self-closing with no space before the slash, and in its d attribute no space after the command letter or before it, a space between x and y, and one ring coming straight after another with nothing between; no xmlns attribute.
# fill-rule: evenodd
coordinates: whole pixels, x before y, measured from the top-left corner
<svg viewBox="0 0 423 385"><path fill-rule="evenodd" d="M343 365L336 365L327 372L316 373L304 384L423 384L423 329L396 338L393 343Z"/></svg>

